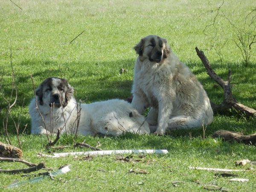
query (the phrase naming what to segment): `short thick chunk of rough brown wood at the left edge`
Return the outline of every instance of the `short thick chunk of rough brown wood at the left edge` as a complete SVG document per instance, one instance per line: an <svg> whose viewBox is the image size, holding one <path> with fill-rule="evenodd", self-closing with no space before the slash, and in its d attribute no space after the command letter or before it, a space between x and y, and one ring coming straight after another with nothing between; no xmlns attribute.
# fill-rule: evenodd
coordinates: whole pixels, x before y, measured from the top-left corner
<svg viewBox="0 0 256 192"><path fill-rule="evenodd" d="M22 151L13 145L6 145L0 142L0 156L11 157L11 158L21 158Z"/></svg>

